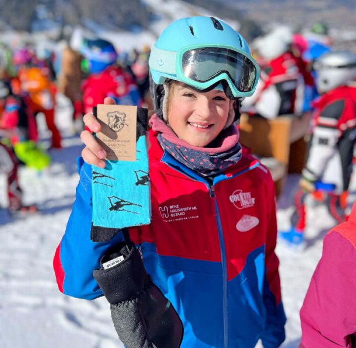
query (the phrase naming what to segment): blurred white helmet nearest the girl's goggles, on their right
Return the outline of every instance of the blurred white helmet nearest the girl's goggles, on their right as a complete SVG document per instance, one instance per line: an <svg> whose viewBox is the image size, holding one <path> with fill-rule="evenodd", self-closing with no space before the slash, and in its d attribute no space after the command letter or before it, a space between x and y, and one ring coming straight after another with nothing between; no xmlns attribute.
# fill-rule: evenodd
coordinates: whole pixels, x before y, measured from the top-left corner
<svg viewBox="0 0 356 348"><path fill-rule="evenodd" d="M267 35L257 38L253 47L266 60L272 60L288 51L292 43L292 30L286 26L275 27Z"/></svg>

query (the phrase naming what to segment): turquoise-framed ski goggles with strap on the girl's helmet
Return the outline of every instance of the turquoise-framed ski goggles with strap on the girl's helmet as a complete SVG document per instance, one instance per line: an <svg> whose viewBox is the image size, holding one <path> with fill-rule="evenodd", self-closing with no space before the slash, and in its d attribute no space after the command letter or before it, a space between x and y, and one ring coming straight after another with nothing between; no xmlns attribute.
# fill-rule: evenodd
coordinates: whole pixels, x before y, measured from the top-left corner
<svg viewBox="0 0 356 348"><path fill-rule="evenodd" d="M178 81L200 90L222 83L231 96L251 95L260 76L260 67L246 53L231 47L184 47L178 52L152 47L151 69L166 77L175 75ZM176 78L172 77L174 80Z"/></svg>

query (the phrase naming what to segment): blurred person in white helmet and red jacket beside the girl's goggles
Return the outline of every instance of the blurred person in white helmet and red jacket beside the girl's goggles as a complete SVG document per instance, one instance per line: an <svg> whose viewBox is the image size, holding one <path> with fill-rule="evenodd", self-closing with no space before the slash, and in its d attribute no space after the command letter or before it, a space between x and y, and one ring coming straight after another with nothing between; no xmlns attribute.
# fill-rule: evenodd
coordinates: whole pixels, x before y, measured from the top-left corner
<svg viewBox="0 0 356 348"><path fill-rule="evenodd" d="M261 77L256 93L242 102L249 115L272 120L280 115L301 116L305 108L308 88L313 79L301 57L293 54L292 32L277 27L256 39L255 49L261 61Z"/></svg>

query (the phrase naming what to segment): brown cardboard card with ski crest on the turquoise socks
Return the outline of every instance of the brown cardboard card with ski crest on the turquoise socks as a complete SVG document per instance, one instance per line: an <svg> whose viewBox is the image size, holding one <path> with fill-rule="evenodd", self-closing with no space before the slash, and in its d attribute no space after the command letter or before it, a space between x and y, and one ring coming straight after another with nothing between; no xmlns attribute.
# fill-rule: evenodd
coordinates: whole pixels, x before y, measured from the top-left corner
<svg viewBox="0 0 356 348"><path fill-rule="evenodd" d="M96 139L108 160L136 161L137 106L97 105L101 132Z"/></svg>

